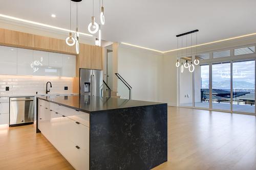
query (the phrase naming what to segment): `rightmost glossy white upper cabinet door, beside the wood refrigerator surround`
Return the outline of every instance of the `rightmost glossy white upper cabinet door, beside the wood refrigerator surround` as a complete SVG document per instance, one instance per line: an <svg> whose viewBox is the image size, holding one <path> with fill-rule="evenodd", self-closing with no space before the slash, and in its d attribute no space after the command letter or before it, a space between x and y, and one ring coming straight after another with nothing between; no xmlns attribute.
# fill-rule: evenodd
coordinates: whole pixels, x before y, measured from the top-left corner
<svg viewBox="0 0 256 170"><path fill-rule="evenodd" d="M63 55L62 76L75 77L76 76L76 56Z"/></svg>

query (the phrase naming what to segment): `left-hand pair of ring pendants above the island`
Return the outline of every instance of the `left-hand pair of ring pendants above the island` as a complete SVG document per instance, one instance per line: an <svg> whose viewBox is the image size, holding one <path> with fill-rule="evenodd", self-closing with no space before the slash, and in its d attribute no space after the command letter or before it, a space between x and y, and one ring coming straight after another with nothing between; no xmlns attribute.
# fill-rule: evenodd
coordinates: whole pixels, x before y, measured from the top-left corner
<svg viewBox="0 0 256 170"><path fill-rule="evenodd" d="M69 33L69 36L66 38L66 43L69 46L76 45L76 54L79 54L79 33L78 33L78 2L81 2L80 0L75 1L71 0L73 2L76 2L76 32L74 37L72 37L72 32ZM71 1L70 1L70 31L71 31Z"/></svg>

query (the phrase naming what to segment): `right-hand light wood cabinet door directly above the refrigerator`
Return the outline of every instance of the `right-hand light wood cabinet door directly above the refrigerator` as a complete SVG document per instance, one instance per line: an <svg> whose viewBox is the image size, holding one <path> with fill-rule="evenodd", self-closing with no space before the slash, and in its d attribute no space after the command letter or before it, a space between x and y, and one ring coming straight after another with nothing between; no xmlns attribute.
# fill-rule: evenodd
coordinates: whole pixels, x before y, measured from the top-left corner
<svg viewBox="0 0 256 170"><path fill-rule="evenodd" d="M91 46L91 68L102 70L102 48Z"/></svg>

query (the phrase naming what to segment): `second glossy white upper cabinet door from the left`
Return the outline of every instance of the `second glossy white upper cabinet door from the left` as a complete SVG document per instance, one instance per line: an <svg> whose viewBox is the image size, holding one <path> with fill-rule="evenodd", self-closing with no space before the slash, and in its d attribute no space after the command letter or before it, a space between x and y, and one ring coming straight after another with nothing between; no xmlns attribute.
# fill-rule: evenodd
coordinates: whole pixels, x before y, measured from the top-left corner
<svg viewBox="0 0 256 170"><path fill-rule="evenodd" d="M33 50L18 48L17 57L17 74L18 75L33 75Z"/></svg>

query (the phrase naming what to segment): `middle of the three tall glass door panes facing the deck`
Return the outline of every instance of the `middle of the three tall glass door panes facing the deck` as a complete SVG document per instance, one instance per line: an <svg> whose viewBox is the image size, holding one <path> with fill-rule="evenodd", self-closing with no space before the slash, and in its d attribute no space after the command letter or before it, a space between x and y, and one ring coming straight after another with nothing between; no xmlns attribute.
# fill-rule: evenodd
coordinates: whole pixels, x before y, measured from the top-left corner
<svg viewBox="0 0 256 170"><path fill-rule="evenodd" d="M212 64L212 109L231 110L230 62Z"/></svg>

